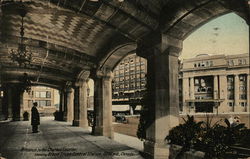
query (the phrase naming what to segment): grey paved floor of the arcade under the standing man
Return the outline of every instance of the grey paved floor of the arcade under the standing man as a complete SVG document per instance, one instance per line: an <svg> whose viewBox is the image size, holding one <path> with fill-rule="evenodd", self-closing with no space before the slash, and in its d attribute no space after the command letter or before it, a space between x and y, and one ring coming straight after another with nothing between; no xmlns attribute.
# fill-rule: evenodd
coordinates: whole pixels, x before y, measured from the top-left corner
<svg viewBox="0 0 250 159"><path fill-rule="evenodd" d="M0 123L0 153L7 159L142 159L138 150L52 118L42 118L37 134L29 121Z"/></svg>

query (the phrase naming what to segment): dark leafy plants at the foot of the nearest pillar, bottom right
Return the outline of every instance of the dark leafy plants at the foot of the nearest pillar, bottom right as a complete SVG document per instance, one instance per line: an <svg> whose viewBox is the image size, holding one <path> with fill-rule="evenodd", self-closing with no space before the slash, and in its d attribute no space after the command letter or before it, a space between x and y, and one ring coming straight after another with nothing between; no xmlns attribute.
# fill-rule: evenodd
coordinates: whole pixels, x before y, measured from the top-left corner
<svg viewBox="0 0 250 159"><path fill-rule="evenodd" d="M212 120L207 118L206 122L195 122L194 117L187 116L184 124L180 124L170 130L166 137L170 144L181 145L182 151L194 148L205 152L205 158L223 159L231 146L235 144L246 145L250 142L250 130L244 124L231 125L227 119L226 126L219 121L212 125Z"/></svg>

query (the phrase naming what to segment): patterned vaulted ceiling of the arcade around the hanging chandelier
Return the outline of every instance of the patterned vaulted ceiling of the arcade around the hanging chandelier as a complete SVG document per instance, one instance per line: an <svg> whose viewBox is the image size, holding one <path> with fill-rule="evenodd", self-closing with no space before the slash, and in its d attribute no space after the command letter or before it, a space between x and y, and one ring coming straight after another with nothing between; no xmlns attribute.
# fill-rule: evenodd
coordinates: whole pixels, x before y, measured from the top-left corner
<svg viewBox="0 0 250 159"><path fill-rule="evenodd" d="M27 11L25 44L33 53L25 68L9 57L20 41L21 4ZM81 71L113 68L138 40L159 28L184 39L229 11L247 19L248 7L247 0L2 0L0 76L14 82L28 73L34 83L62 87Z"/></svg>

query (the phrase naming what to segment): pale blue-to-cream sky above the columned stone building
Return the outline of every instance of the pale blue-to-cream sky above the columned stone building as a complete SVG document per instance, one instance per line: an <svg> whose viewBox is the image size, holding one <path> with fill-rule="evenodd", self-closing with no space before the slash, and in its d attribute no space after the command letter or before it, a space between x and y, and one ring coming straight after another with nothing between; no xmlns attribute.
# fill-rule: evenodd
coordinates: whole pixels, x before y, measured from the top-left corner
<svg viewBox="0 0 250 159"><path fill-rule="evenodd" d="M245 20L229 13L204 24L184 40L180 59L203 53L249 53L249 27Z"/></svg>

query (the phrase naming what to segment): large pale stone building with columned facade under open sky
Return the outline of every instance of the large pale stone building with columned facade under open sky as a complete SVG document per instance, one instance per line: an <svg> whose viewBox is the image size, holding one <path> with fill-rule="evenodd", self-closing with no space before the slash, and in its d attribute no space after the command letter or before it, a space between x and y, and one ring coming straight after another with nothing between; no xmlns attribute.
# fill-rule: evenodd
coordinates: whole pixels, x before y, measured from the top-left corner
<svg viewBox="0 0 250 159"><path fill-rule="evenodd" d="M248 53L201 54L183 60L180 68L182 113L249 112L249 73Z"/></svg>

